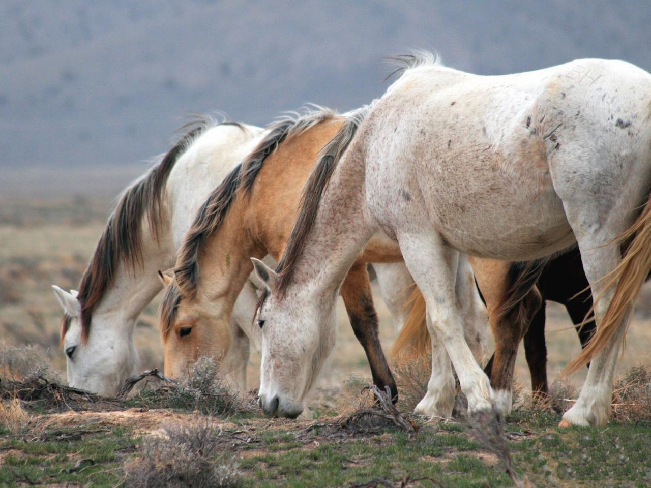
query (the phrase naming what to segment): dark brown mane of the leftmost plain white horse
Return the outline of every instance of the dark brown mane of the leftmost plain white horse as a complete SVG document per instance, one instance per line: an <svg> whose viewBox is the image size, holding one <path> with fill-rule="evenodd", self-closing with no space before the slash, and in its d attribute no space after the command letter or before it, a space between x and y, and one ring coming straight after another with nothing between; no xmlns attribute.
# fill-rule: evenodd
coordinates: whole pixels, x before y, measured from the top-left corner
<svg viewBox="0 0 651 488"><path fill-rule="evenodd" d="M158 239L163 211L161 198L167 177L176 160L191 141L199 137L207 128L215 125L219 124L204 117L183 126L180 130L184 130L185 134L163 156L161 162L122 193L97 243L90 263L81 277L77 299L81 305L83 341L88 340L92 312L107 288L113 283L118 262L121 260L127 267L135 267L142 262L141 224L145 215L152 236Z"/></svg>

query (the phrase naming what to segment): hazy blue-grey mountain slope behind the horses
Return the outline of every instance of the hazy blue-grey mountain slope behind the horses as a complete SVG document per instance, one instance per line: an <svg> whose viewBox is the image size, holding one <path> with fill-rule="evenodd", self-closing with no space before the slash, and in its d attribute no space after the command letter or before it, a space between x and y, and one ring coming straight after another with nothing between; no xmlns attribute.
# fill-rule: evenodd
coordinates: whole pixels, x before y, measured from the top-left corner
<svg viewBox="0 0 651 488"><path fill-rule="evenodd" d="M580 57L651 70L651 2L5 0L0 166L118 165L163 152L185 111L266 124L379 96L381 57L436 49L504 74Z"/></svg>

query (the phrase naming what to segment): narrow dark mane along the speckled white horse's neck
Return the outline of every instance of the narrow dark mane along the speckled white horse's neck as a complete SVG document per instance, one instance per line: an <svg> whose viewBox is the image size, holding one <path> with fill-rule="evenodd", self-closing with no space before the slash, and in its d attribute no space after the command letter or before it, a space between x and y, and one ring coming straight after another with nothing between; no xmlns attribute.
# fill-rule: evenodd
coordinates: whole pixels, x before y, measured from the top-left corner
<svg viewBox="0 0 651 488"><path fill-rule="evenodd" d="M281 296L284 295L284 292L287 290L287 287L292 280L296 262L303 252L303 247L307 241L307 237L309 237L312 227L314 226L319 203L323 192L327 187L327 183L330 181L339 159L353 140L357 128L359 128L363 120L366 118L371 107L372 105L367 105L350 113L346 117L344 124L341 126L339 131L337 131L335 137L333 137L333 139L321 150L316 167L314 167L314 170L310 173L310 176L303 187L298 219L296 220L296 224L294 224L294 228L292 229L292 234L287 241L287 247L283 253L283 258L281 258L281 261L276 268L276 271L279 274L276 290L278 290ZM260 305L264 303L265 297L266 293L263 293L259 301Z"/></svg>

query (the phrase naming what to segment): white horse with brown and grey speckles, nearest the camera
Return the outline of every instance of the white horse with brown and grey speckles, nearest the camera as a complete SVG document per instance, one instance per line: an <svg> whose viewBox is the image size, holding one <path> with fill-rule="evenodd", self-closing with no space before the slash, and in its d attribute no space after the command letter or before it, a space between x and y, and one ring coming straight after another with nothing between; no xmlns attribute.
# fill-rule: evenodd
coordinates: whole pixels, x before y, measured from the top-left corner
<svg viewBox="0 0 651 488"><path fill-rule="evenodd" d="M502 76L428 55L400 60L402 76L324 148L277 270L260 266L271 290L256 313L263 408L296 412L288 372L311 361L303 338L332 329L331 290L382 230L422 291L428 330L445 346L433 353L449 355L470 412L491 411L494 396L455 301L460 252L531 261L578 244L598 327L568 366L590 361L562 425L604 424L620 342L651 268L651 75L595 59Z"/></svg>

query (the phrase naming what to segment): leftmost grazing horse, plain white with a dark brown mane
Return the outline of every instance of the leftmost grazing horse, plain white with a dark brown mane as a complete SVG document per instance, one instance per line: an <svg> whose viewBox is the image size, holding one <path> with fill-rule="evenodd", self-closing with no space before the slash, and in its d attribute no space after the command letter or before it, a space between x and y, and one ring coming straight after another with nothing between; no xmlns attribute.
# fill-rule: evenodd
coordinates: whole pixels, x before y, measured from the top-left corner
<svg viewBox="0 0 651 488"><path fill-rule="evenodd" d="M111 396L138 372L133 329L161 290L156 270L174 263L201 202L264 135L260 128L208 118L184 130L161 161L118 199L79 292L53 287L64 309L61 343L70 386ZM236 303L229 327L240 349L246 346L256 301L247 289ZM241 378L246 359L244 364L238 357L232 361Z"/></svg>

